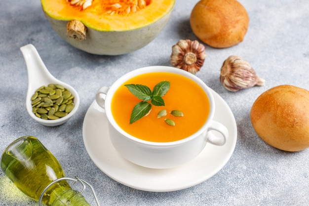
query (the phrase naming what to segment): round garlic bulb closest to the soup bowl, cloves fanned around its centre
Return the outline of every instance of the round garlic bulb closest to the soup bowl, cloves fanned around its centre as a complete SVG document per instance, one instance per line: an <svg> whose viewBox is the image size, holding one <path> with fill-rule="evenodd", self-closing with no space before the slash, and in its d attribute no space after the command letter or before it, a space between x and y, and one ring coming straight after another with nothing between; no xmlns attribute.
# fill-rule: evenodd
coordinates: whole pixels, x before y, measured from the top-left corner
<svg viewBox="0 0 309 206"><path fill-rule="evenodd" d="M180 40L172 47L171 65L192 74L200 70L205 58L205 46L196 40Z"/></svg>

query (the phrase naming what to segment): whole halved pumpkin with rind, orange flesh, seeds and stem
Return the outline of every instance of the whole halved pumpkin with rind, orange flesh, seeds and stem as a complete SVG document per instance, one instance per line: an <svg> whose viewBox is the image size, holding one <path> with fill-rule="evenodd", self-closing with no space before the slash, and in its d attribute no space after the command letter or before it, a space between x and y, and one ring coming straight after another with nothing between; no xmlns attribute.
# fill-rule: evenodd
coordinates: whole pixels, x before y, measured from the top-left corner
<svg viewBox="0 0 309 206"><path fill-rule="evenodd" d="M118 55L153 41L167 24L175 0L41 0L41 4L65 41L89 53Z"/></svg>

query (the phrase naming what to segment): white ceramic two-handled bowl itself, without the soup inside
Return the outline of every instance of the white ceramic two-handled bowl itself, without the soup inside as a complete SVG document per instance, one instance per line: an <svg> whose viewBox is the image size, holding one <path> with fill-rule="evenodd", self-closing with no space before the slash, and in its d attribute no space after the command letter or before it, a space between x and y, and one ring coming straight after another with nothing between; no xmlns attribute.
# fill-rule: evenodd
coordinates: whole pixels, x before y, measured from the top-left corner
<svg viewBox="0 0 309 206"><path fill-rule="evenodd" d="M210 103L208 119L193 135L173 142L150 142L128 134L114 120L111 102L117 88L132 77L153 72L168 72L185 76L196 82L206 93ZM207 142L221 146L225 144L229 136L228 129L223 124L212 120L215 112L215 101L209 87L193 74L181 69L166 66L136 69L119 78L111 87L101 87L96 94L96 102L105 109L109 134L115 149L125 159L137 165L150 168L169 168L182 165L196 157L204 149ZM216 130L222 136L217 137L210 130Z"/></svg>

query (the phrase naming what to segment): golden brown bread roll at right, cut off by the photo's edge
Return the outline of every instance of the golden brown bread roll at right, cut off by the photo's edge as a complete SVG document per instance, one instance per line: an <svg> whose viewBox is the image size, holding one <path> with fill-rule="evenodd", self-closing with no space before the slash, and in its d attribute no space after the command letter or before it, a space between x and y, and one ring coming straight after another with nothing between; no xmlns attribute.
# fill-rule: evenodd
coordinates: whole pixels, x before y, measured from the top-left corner
<svg viewBox="0 0 309 206"><path fill-rule="evenodd" d="M262 93L251 108L256 133L280 150L295 152L309 147L309 91L279 85Z"/></svg>

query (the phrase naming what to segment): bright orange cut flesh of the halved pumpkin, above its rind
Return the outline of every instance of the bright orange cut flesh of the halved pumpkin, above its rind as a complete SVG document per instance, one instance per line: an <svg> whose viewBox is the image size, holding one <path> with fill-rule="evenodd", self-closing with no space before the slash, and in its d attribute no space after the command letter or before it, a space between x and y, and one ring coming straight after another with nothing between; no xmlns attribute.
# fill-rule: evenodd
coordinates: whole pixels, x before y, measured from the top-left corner
<svg viewBox="0 0 309 206"><path fill-rule="evenodd" d="M134 0L93 0L83 9L67 0L41 0L43 11L57 20L79 20L98 31L128 31L150 25L168 14L175 0L146 0L144 8L128 13ZM121 7L115 6L120 5Z"/></svg>

